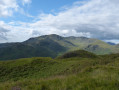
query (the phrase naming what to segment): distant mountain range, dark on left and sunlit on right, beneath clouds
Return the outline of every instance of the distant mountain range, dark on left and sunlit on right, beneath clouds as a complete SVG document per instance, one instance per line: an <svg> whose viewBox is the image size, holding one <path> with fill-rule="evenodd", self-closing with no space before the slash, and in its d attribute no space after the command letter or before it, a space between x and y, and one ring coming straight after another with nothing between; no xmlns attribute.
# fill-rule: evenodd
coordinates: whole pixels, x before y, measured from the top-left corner
<svg viewBox="0 0 119 90"><path fill-rule="evenodd" d="M28 57L55 58L69 51L83 49L95 54L118 53L119 45L110 45L86 37L61 37L56 34L30 38L21 43L0 44L0 60Z"/></svg>

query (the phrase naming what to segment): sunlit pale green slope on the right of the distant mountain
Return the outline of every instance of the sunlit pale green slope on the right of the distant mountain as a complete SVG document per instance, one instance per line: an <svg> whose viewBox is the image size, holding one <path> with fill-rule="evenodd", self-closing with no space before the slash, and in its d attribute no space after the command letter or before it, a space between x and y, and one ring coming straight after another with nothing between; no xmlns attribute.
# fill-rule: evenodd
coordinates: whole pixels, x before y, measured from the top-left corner
<svg viewBox="0 0 119 90"><path fill-rule="evenodd" d="M109 45L98 39L90 39L85 37L73 37L66 38L66 40L73 43L76 47L70 48L70 51L77 49L84 49L95 54L109 54L109 53L118 53L119 48L115 45Z"/></svg>

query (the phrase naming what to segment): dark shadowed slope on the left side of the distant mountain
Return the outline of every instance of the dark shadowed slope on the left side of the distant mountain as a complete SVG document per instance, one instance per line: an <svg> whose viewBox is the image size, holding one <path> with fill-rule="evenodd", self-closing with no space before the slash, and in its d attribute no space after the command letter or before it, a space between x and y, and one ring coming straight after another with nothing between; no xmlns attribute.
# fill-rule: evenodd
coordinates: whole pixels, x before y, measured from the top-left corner
<svg viewBox="0 0 119 90"><path fill-rule="evenodd" d="M39 44L14 43L0 48L0 60L40 56L54 58L65 50L66 48L52 40L41 40Z"/></svg>

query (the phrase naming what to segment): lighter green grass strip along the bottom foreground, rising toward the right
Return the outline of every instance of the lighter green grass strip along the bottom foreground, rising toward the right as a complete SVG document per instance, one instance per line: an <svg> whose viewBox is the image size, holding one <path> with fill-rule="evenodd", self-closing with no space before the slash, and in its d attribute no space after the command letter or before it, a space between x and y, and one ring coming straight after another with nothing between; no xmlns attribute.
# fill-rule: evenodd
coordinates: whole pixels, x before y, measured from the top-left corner
<svg viewBox="0 0 119 90"><path fill-rule="evenodd" d="M69 76L55 76L46 79L24 79L5 82L1 90L19 87L23 90L118 90L119 72L112 68L96 67L92 71Z"/></svg>

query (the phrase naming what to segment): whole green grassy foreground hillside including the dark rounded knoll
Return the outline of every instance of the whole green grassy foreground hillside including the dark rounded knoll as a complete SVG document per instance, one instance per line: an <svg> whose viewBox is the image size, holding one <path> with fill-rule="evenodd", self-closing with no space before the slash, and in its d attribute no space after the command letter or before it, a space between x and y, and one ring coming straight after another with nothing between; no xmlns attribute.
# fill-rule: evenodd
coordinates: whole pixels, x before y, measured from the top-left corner
<svg viewBox="0 0 119 90"><path fill-rule="evenodd" d="M119 54L68 54L0 61L0 90L118 90Z"/></svg>

